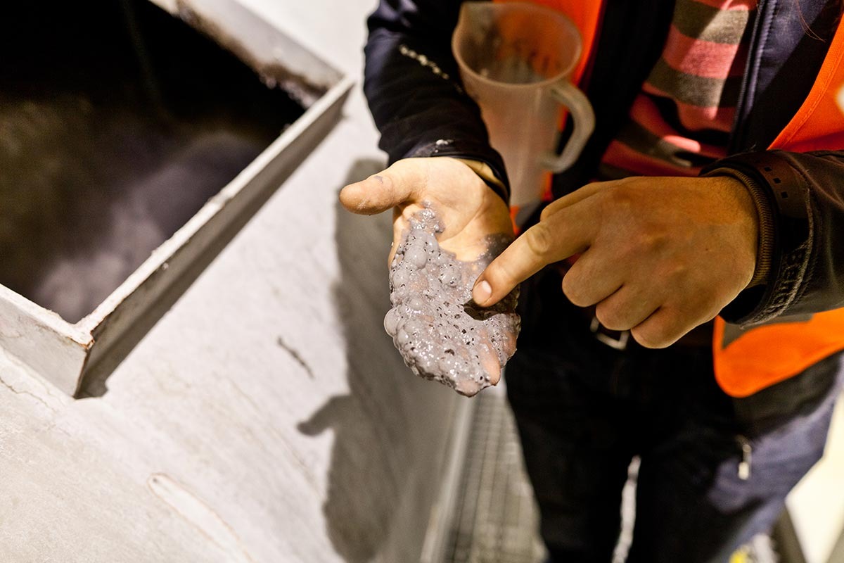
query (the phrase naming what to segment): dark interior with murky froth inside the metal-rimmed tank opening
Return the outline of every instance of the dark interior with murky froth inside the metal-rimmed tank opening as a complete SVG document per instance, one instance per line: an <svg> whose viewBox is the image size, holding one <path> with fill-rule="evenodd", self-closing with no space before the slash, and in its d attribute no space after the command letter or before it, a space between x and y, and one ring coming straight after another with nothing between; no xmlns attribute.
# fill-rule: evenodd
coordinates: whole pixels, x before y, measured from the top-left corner
<svg viewBox="0 0 844 563"><path fill-rule="evenodd" d="M0 284L77 322L302 112L147 0L0 19Z"/></svg>

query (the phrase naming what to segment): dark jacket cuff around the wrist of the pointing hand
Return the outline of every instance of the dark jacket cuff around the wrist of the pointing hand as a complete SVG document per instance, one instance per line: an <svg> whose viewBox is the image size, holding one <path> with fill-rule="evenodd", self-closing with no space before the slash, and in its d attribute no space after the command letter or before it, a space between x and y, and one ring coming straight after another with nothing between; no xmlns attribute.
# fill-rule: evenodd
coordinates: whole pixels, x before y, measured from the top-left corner
<svg viewBox="0 0 844 563"><path fill-rule="evenodd" d="M739 180L744 176L751 198L760 211L761 247L770 244L765 284L748 287L724 307L721 316L740 325L759 324L787 311L798 297L811 251L809 190L803 176L780 155L781 151L743 153L717 160L701 172L724 174ZM741 176L738 176L741 175ZM748 183L749 182L749 183ZM771 225L763 233L764 213L770 211ZM757 259L757 266L759 259ZM763 265L764 267L764 265ZM754 275L756 277L756 274Z"/></svg>

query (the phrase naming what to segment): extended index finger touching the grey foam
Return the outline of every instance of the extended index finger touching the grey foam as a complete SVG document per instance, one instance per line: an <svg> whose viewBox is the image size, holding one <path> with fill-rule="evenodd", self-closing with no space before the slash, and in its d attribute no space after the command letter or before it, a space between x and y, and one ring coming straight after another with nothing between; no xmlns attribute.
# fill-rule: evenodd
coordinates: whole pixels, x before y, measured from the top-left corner
<svg viewBox="0 0 844 563"><path fill-rule="evenodd" d="M518 284L550 263L583 252L591 242L589 223L575 219L569 209L539 221L507 246L486 267L472 289L479 306L492 306Z"/></svg>

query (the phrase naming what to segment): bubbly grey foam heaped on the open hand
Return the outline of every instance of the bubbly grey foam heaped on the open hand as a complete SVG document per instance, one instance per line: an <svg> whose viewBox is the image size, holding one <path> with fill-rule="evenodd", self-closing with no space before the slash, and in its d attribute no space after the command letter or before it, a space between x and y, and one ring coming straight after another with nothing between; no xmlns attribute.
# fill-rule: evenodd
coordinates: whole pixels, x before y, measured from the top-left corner
<svg viewBox="0 0 844 563"><path fill-rule="evenodd" d="M512 239L490 235L487 252L463 262L436 241L443 225L433 209L409 223L390 266L392 309L384 328L416 375L472 396L516 351L518 288L488 308L472 301L475 279Z"/></svg>

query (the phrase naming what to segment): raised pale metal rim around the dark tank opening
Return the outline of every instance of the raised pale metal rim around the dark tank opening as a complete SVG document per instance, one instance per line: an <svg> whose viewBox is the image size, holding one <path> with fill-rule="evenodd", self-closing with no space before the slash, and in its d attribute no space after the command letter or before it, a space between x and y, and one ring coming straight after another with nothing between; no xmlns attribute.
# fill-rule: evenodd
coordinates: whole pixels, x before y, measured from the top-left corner
<svg viewBox="0 0 844 563"><path fill-rule="evenodd" d="M0 285L0 346L75 396L105 378L338 122L354 80L235 0L150 0L293 92L305 113L75 325ZM247 33L248 31L248 33ZM283 60L288 54L290 60ZM311 76L312 75L312 76ZM286 83L286 84L285 84Z"/></svg>

